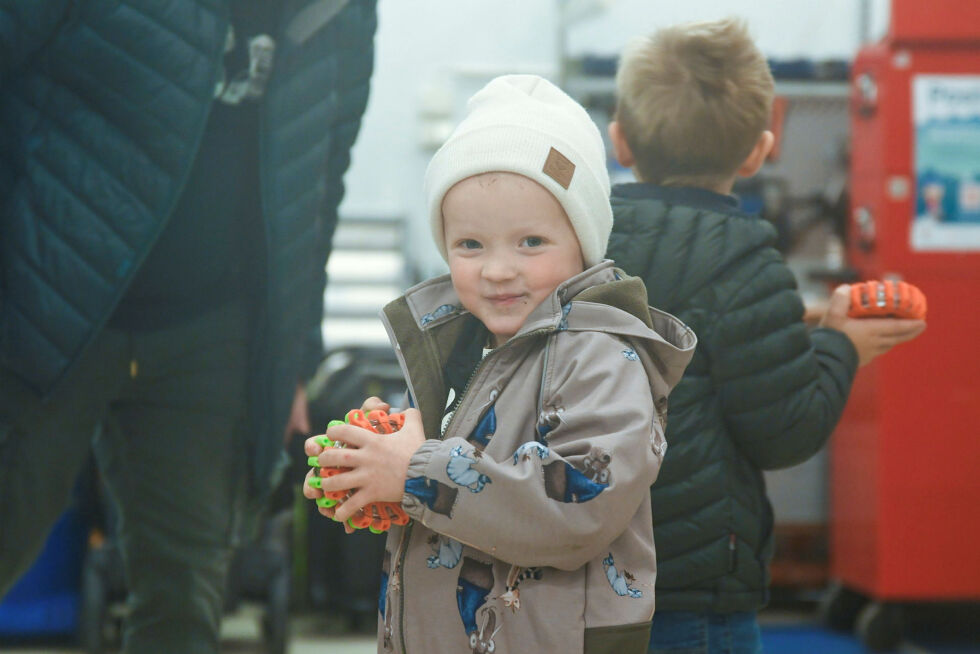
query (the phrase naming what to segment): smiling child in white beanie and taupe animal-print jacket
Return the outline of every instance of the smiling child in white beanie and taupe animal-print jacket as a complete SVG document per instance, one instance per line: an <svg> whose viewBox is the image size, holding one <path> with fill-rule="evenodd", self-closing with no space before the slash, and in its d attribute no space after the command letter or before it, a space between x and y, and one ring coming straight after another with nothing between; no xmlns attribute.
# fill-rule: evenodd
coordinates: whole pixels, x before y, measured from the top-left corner
<svg viewBox="0 0 980 654"><path fill-rule="evenodd" d="M378 651L642 653L649 486L694 334L603 261L602 138L547 80L473 96L425 188L449 275L382 315L418 410L393 435L338 425L345 449L306 445L350 468L307 497L356 489L324 513L390 501L412 519L388 535Z"/></svg>

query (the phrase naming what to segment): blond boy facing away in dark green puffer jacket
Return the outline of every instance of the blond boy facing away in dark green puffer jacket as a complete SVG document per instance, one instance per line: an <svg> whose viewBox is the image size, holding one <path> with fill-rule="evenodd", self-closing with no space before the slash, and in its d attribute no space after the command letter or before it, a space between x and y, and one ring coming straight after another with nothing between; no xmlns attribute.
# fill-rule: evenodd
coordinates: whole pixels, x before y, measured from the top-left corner
<svg viewBox="0 0 980 654"><path fill-rule="evenodd" d="M741 21L678 25L634 42L617 91L609 135L639 181L612 190L607 256L698 334L671 394L670 449L651 488L649 651L754 653L772 556L763 471L823 447L858 366L925 323L850 319L841 286L807 331L775 229L731 195L773 146L772 75Z"/></svg>

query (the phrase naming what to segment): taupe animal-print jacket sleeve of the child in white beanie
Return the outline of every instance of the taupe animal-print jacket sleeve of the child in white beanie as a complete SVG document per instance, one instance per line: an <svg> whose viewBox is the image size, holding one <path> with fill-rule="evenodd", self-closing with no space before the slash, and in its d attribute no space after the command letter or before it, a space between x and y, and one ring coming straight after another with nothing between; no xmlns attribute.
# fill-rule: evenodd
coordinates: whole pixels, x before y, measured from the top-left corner
<svg viewBox="0 0 980 654"><path fill-rule="evenodd" d="M426 441L409 465L403 505L434 531L508 563L574 570L634 519L664 441L650 380L626 342L595 333L559 338L569 354L555 357L542 411L553 429L539 441L535 425L526 442L495 434L523 442L501 460L463 438ZM438 493L449 498L442 510Z"/></svg>

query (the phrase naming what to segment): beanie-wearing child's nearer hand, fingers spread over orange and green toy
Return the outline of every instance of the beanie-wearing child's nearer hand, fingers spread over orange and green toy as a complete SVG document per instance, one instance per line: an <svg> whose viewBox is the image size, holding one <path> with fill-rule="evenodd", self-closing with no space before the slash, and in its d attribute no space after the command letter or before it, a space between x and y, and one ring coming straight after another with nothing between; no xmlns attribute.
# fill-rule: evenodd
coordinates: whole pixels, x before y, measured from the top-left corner
<svg viewBox="0 0 980 654"><path fill-rule="evenodd" d="M408 462L425 442L421 414L416 409L407 409L404 413L404 426L393 434L376 434L354 425L335 425L327 430L327 436L346 443L347 447L324 450L315 442L311 448L307 441L307 454L319 456L320 466L350 468L321 482L324 491L357 489L346 501L333 507L336 509L335 520L346 521L371 502L401 503ZM313 488L304 488L304 495L310 499L316 497L310 491L320 493Z"/></svg>

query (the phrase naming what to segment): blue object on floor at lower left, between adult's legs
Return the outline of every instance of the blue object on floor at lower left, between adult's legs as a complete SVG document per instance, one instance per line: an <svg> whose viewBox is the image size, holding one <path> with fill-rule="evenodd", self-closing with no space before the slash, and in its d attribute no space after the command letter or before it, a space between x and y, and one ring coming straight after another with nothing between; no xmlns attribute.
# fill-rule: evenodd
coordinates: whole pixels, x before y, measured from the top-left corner
<svg viewBox="0 0 980 654"><path fill-rule="evenodd" d="M0 602L0 635L54 635L76 630L86 540L78 511L67 510L55 523L37 561Z"/></svg>

